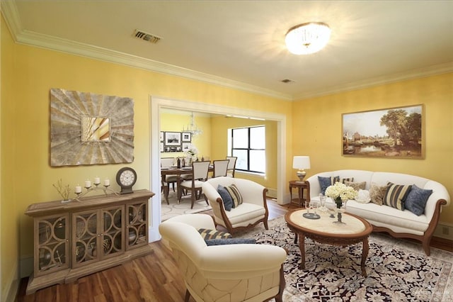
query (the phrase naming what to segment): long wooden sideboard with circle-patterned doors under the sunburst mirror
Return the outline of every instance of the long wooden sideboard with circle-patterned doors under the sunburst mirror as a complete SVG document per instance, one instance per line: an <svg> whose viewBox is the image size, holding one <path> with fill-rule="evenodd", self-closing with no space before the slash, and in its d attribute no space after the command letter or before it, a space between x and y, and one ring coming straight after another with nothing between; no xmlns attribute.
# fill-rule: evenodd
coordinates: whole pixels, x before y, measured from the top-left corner
<svg viewBox="0 0 453 302"><path fill-rule="evenodd" d="M28 206L25 214L34 220L34 271L26 293L149 254L152 196L151 191L137 190Z"/></svg>

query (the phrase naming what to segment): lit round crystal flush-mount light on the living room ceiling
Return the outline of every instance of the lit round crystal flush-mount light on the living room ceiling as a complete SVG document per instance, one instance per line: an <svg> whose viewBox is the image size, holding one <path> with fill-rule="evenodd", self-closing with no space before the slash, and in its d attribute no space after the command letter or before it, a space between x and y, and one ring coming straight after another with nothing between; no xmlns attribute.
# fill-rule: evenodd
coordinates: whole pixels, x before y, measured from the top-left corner
<svg viewBox="0 0 453 302"><path fill-rule="evenodd" d="M331 38L331 28L326 23L309 22L289 28L285 43L294 55L310 55L319 52Z"/></svg>

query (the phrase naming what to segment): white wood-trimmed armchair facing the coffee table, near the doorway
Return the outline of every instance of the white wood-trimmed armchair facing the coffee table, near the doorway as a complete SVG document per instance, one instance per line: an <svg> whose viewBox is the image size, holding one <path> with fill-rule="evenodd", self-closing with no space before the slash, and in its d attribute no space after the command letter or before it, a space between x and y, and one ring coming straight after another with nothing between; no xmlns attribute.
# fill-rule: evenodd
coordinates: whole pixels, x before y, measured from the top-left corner
<svg viewBox="0 0 453 302"><path fill-rule="evenodd" d="M235 184L243 198L243 203L226 211L222 197L217 192L217 186L231 186ZM215 177L202 184L203 192L214 212L214 223L222 225L233 234L243 228L251 228L260 222L268 230L268 204L266 203L266 189L248 179L233 177Z"/></svg>

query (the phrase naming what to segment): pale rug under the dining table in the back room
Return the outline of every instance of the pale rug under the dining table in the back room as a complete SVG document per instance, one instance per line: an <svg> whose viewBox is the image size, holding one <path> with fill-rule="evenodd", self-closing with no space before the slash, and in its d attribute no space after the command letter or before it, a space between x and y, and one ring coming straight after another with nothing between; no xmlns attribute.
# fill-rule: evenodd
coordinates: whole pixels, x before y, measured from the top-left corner
<svg viewBox="0 0 453 302"><path fill-rule="evenodd" d="M190 195L183 196L181 198L181 202L178 203L178 198L176 193L173 191L168 194L168 202L169 205L166 203L165 200L162 200L161 203L161 220L167 220L173 216L178 216L182 214L192 214L192 213L199 213L202 211L211 210L211 206L208 206L205 198L199 199L195 201L193 204L193 208L190 208Z"/></svg>

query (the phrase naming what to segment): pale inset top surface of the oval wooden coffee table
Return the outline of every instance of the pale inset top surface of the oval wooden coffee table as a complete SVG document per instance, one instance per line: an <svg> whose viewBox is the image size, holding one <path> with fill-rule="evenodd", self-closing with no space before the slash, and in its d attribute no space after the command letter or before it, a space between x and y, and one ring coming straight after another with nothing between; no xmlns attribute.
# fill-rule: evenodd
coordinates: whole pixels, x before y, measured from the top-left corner
<svg viewBox="0 0 453 302"><path fill-rule="evenodd" d="M365 224L361 220L343 213L342 221L345 224L333 223L337 221L337 217L330 218L330 213L320 213L317 211L321 218L319 219L309 219L304 218L302 214L306 213L305 209L294 211L289 217L292 220L292 223L295 223L302 228L309 230L314 230L316 232L326 233L326 234L357 234L365 230ZM336 215L336 214L335 214Z"/></svg>

